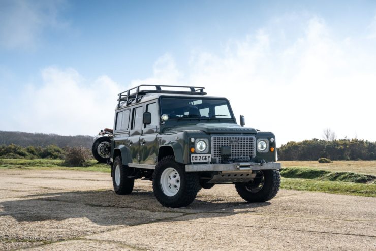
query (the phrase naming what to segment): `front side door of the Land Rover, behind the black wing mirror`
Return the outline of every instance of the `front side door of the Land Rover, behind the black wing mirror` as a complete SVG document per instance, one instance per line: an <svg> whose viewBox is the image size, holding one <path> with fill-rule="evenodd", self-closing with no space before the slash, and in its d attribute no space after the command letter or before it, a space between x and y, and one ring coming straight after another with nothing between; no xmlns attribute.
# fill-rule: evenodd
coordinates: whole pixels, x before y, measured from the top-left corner
<svg viewBox="0 0 376 251"><path fill-rule="evenodd" d="M140 137L141 164L155 165L158 154L156 136L160 124L158 102L154 100L145 103L145 112L151 113L151 123L143 124L142 135Z"/></svg>

